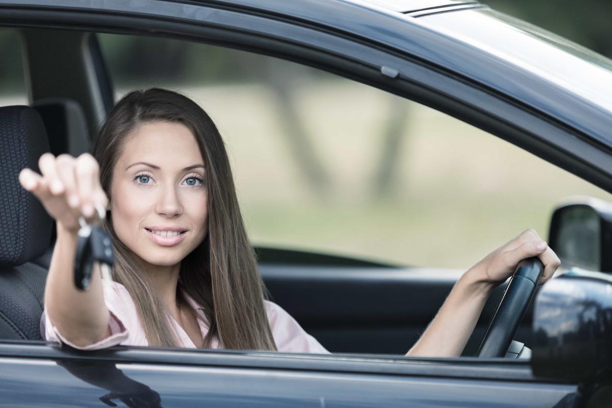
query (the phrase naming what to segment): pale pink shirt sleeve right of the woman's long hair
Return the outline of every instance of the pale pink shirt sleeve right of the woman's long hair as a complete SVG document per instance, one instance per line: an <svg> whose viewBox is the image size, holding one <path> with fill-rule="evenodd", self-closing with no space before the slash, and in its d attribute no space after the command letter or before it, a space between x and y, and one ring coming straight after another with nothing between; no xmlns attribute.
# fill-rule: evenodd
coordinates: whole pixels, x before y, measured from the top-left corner
<svg viewBox="0 0 612 408"><path fill-rule="evenodd" d="M296 319L293 319L285 309L267 300L264 300L264 305L278 351L286 353L330 353L313 336L306 333Z"/></svg>

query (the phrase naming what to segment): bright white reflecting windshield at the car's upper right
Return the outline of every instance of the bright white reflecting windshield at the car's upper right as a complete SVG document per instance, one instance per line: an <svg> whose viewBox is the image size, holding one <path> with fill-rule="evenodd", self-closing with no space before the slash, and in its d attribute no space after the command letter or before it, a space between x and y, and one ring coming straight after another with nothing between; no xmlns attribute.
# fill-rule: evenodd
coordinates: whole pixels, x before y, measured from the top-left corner
<svg viewBox="0 0 612 408"><path fill-rule="evenodd" d="M490 9L428 15L449 36L512 62L612 112L612 60Z"/></svg>

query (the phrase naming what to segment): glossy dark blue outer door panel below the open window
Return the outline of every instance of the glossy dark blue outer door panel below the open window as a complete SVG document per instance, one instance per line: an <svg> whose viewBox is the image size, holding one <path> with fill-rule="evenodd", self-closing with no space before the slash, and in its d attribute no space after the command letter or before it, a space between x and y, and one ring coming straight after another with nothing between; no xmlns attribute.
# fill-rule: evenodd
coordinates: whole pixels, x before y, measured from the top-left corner
<svg viewBox="0 0 612 408"><path fill-rule="evenodd" d="M77 354L23 347L31 354L28 360L0 357L4 406L99 407L123 401L144 407L438 407L453 401L456 407L550 407L576 391L572 384L536 381L526 365L491 362L468 368L458 361L453 367L453 362L436 360L169 354L162 349L140 353L138 347L113 358L112 351ZM55 356L37 356L45 348ZM179 362L182 354L189 363ZM398 375L401 371L411 374ZM466 374L476 379L461 378Z"/></svg>

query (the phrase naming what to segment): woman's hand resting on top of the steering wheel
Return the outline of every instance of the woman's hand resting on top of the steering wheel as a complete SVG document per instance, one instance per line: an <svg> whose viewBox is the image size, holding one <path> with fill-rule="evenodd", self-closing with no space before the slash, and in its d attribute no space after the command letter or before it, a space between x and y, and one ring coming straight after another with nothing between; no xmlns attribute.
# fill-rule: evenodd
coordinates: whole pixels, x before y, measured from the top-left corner
<svg viewBox="0 0 612 408"><path fill-rule="evenodd" d="M497 286L512 276L521 260L531 257L538 257L544 265L540 284L550 279L561 265L561 260L547 243L535 230L529 229L488 254L471 270L479 281Z"/></svg>

